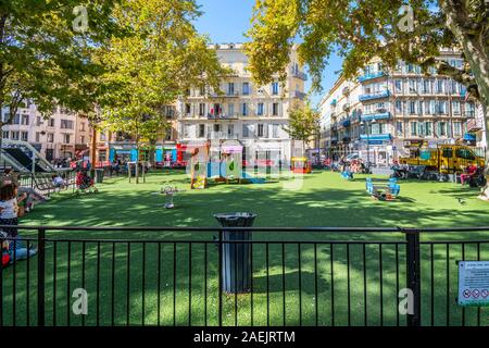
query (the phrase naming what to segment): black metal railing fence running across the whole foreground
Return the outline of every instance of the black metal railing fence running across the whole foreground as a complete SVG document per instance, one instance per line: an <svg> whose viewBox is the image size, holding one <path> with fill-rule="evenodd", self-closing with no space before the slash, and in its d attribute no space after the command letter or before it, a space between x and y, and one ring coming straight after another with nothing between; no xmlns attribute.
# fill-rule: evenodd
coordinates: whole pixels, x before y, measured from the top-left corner
<svg viewBox="0 0 489 348"><path fill-rule="evenodd" d="M489 325L488 308L456 303L456 261L489 260L489 227L238 229L253 239L224 240L215 227L21 226L38 253L0 270L0 326ZM226 294L222 246L243 243L250 291ZM412 313L399 310L403 288Z"/></svg>

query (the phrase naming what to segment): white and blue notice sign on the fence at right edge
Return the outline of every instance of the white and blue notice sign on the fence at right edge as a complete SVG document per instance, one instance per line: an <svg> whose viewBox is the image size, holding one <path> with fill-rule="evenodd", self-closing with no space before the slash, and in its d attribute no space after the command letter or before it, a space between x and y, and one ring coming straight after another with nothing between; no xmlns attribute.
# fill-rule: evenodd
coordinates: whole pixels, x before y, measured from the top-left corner
<svg viewBox="0 0 489 348"><path fill-rule="evenodd" d="M459 262L459 304L489 306L489 261Z"/></svg>

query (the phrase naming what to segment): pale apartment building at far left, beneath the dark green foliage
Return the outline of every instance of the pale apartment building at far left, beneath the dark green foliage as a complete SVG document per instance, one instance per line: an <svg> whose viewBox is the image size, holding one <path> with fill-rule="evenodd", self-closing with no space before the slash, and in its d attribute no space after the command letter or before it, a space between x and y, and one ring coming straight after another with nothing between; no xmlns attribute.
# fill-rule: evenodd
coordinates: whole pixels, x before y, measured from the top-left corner
<svg viewBox="0 0 489 348"><path fill-rule="evenodd" d="M3 120L10 117L2 110ZM23 140L33 145L48 161L68 159L87 148L88 138L83 128L85 120L66 108L55 107L48 117L41 115L30 101L21 103L12 124L2 128L3 139Z"/></svg>

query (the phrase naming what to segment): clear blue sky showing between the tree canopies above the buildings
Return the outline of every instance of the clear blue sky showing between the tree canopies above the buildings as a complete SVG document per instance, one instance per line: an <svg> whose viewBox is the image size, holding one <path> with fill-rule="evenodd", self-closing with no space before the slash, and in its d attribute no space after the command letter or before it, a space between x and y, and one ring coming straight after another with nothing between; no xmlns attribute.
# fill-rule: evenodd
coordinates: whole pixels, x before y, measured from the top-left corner
<svg viewBox="0 0 489 348"><path fill-rule="evenodd" d="M196 27L206 34L214 44L244 42L244 33L250 28L250 18L254 0L197 0L204 12L197 21ZM341 69L341 59L334 57L323 74L323 94L335 83L335 72ZM306 85L309 90L310 82ZM321 100L319 95L311 97L313 104Z"/></svg>

